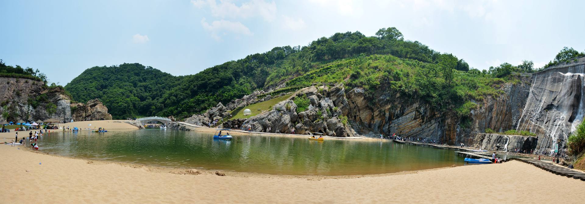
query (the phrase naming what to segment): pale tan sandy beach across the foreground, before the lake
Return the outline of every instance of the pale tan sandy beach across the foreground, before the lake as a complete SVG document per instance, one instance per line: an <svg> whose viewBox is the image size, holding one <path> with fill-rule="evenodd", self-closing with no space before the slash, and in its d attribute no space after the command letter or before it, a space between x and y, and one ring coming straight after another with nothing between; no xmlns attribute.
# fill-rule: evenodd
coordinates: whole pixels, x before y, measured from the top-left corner
<svg viewBox="0 0 585 204"><path fill-rule="evenodd" d="M20 149L19 149L20 148ZM0 203L582 203L585 182L524 164L324 177L188 174L0 146ZM174 172L174 173L173 173ZM179 173L179 174L177 174Z"/></svg>

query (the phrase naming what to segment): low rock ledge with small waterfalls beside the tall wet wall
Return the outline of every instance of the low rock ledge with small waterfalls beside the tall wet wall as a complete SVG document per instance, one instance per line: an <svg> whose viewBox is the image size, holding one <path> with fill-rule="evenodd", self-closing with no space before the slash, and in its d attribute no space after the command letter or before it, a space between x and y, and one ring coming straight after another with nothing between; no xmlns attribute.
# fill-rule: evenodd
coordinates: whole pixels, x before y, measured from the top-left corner
<svg viewBox="0 0 585 204"><path fill-rule="evenodd" d="M465 141L467 143L463 144L466 146L482 150L513 151L518 148L530 151L536 149L538 137L479 133L475 137L467 137Z"/></svg>

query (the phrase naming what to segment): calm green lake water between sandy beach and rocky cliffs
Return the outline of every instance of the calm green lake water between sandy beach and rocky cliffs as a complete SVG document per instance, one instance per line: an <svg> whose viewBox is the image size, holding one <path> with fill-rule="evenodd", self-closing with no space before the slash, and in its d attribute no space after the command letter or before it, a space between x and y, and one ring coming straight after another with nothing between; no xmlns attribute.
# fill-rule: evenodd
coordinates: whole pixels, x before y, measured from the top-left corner
<svg viewBox="0 0 585 204"><path fill-rule="evenodd" d="M211 133L171 129L54 132L39 150L92 160L165 167L284 175L361 175L463 165L453 150L392 141L327 140L235 135L214 140Z"/></svg>

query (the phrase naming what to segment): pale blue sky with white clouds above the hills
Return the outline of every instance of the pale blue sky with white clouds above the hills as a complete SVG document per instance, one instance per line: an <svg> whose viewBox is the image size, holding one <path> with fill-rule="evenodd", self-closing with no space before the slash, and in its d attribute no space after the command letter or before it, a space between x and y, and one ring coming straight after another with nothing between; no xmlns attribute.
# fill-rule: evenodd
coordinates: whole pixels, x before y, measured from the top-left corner
<svg viewBox="0 0 585 204"><path fill-rule="evenodd" d="M585 50L585 1L0 1L0 59L66 85L87 68L140 63L173 75L397 27L479 70Z"/></svg>

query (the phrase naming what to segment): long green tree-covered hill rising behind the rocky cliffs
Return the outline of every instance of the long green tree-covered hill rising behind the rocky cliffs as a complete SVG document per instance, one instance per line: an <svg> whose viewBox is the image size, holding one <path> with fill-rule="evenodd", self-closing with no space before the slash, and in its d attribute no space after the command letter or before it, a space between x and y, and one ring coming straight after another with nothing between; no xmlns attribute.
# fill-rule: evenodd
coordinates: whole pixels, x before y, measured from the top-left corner
<svg viewBox="0 0 585 204"><path fill-rule="evenodd" d="M473 70L467 73L469 65L464 60L429 49L417 41L404 40L400 31L389 27L380 29L376 36L368 37L360 32L335 33L308 46L275 47L266 53L251 54L182 77L140 64L94 67L65 88L77 101L100 98L115 118L187 117L218 102L226 104L254 89L290 79L293 80L289 84L346 81L348 85L370 89L377 88L380 82L392 82L394 88L426 96L438 107L456 109L474 97L469 92L487 86L484 77L477 78L476 84L463 86L471 82L464 82L462 74L471 78L473 74L502 77L504 72L517 68L506 64L493 67L490 72ZM402 69L405 67L408 70ZM525 67L532 68L531 64ZM346 80L349 76L351 79ZM425 80L414 81L415 77ZM453 82L455 79L463 81ZM486 92L492 91L486 89Z"/></svg>

